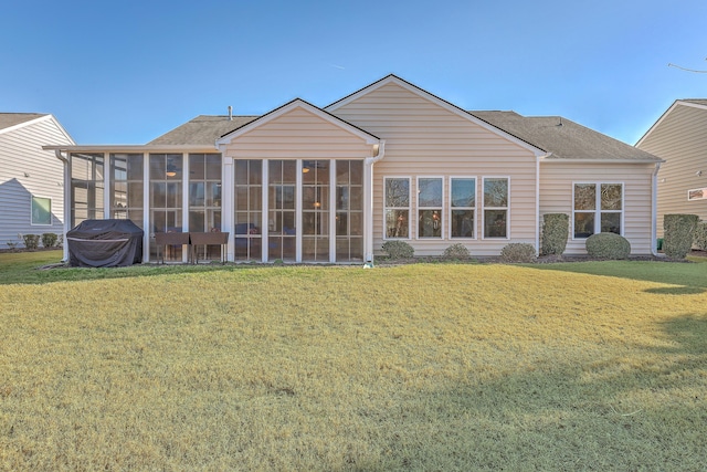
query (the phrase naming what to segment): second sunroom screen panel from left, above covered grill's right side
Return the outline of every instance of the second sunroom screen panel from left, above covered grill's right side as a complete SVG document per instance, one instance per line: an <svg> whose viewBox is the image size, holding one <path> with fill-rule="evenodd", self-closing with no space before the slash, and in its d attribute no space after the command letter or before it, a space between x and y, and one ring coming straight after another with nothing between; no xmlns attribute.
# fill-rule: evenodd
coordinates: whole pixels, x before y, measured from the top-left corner
<svg viewBox="0 0 707 472"><path fill-rule="evenodd" d="M110 155L110 217L143 222L143 155Z"/></svg>

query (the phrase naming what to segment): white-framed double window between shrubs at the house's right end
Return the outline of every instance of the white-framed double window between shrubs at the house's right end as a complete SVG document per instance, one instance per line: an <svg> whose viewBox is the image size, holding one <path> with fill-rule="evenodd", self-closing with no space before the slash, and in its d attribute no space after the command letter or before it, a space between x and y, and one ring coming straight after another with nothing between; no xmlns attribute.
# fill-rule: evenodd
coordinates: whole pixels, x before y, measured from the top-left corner
<svg viewBox="0 0 707 472"><path fill-rule="evenodd" d="M574 183L573 200L574 238L589 238L598 232L622 233L622 183Z"/></svg>

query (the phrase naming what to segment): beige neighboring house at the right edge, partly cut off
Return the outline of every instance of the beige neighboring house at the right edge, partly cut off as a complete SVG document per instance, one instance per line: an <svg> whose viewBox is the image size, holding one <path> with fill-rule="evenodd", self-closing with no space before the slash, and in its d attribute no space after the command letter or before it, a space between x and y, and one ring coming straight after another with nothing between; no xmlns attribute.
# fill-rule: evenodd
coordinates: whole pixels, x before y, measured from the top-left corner
<svg viewBox="0 0 707 472"><path fill-rule="evenodd" d="M707 220L707 99L675 101L636 147L665 160L658 175L658 235L665 214Z"/></svg>

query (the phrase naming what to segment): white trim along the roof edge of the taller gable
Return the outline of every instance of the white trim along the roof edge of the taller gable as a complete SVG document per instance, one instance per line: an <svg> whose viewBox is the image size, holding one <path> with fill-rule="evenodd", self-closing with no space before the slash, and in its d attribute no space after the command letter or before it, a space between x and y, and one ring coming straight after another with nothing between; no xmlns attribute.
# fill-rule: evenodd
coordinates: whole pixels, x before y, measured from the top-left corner
<svg viewBox="0 0 707 472"><path fill-rule="evenodd" d="M395 84L395 85L398 85L398 86L400 86L400 87L402 87L402 88L404 88L404 90L407 90L407 91L409 91L409 92L411 92L411 93L413 93L415 95L421 96L424 99L433 102L436 105L443 107L444 109L446 109L446 111L449 111L451 113L454 113L455 115L461 116L461 117L463 117L465 119L468 119L469 122L481 126L482 128L484 128L484 129L486 129L486 130L488 130L490 133L494 133L495 135L498 135L498 136L511 141L511 143L514 143L514 144L516 144L516 145L518 145L518 146L520 146L520 147L523 147L525 149L528 149L536 157L542 157L542 156L546 156L548 154L545 149L541 149L539 147L532 146L531 144L526 143L523 139L520 139L520 138L518 138L518 137L516 137L516 136L514 136L514 135L511 135L509 133L506 133L503 129L497 128L497 127L484 122L483 119L477 118L476 116L472 115L471 113L466 112L465 109L462 109L458 106L456 106L456 105L454 105L454 104L452 104L452 103L450 103L450 102L447 102L447 101L445 101L443 98L440 98L439 96L433 95L430 92L424 91L424 90L418 87L416 85L413 85L410 82L404 81L404 80L402 80L402 78L400 78L400 77L398 77L398 76L395 76L393 74L388 75L387 77L383 77L380 81L374 82L374 83L361 88L360 91L355 92L351 95L348 95L348 96L341 98L338 102L334 102L331 105L325 107L324 109L326 112L334 113L338 108L348 105L349 103L360 98L361 96L367 95L367 94L369 94L371 92L374 92L374 91L377 91L377 90L379 90L379 88L381 88L381 87L383 87L386 85L389 85L389 84Z"/></svg>

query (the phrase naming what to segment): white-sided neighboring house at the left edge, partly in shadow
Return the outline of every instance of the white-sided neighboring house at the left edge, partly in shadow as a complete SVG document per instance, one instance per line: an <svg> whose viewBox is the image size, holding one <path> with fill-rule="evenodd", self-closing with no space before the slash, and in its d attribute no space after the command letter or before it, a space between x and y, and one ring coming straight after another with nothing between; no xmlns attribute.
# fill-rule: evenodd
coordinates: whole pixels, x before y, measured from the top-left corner
<svg viewBox="0 0 707 472"><path fill-rule="evenodd" d="M0 113L0 249L64 232L64 169L46 143L74 144L52 115Z"/></svg>

